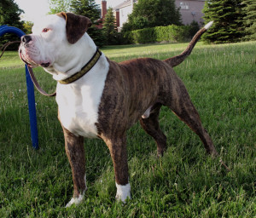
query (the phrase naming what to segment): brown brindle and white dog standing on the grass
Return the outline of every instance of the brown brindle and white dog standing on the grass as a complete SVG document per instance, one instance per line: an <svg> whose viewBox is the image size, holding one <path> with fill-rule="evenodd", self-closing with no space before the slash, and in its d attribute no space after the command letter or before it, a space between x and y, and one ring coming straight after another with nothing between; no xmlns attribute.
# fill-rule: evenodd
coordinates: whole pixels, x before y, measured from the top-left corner
<svg viewBox="0 0 256 218"><path fill-rule="evenodd" d="M199 135L209 154L218 155L182 80L172 69L189 56L212 22L195 34L182 54L163 61L139 58L121 63L108 60L97 49L87 34L90 26L84 16L50 14L20 40L20 59L28 66L44 67L58 81L58 118L73 173L73 198L67 207L81 203L87 189L84 137L105 141L113 160L116 199L125 203L131 198L126 131L139 120L154 138L157 155L163 155L166 135L158 121L161 106L168 106Z"/></svg>

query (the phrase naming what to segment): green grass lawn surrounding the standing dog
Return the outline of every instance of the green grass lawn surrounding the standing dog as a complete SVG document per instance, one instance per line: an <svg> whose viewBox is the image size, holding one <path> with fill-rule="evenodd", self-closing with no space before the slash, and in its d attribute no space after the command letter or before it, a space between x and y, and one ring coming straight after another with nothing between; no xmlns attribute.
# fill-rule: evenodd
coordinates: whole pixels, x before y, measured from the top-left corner
<svg viewBox="0 0 256 218"><path fill-rule="evenodd" d="M182 44L103 48L111 60L166 59ZM201 114L219 159L208 157L201 141L163 108L161 128L168 138L156 158L152 138L136 124L128 132L132 199L114 199L113 166L107 146L85 140L88 191L83 204L65 209L73 194L54 98L35 92L39 150L32 149L23 64L17 53L0 60L0 217L255 217L256 42L198 43L175 71ZM39 83L49 92L55 81L41 68Z"/></svg>

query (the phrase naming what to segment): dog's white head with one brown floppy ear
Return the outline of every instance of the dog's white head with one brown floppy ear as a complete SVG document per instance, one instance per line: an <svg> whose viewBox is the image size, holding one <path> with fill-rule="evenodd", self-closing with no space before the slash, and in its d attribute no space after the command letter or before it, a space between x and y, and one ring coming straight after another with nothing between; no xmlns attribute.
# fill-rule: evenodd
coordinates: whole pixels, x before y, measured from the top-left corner
<svg viewBox="0 0 256 218"><path fill-rule="evenodd" d="M73 13L49 14L36 22L32 34L21 37L20 59L28 66L65 66L81 37L91 26L90 19Z"/></svg>

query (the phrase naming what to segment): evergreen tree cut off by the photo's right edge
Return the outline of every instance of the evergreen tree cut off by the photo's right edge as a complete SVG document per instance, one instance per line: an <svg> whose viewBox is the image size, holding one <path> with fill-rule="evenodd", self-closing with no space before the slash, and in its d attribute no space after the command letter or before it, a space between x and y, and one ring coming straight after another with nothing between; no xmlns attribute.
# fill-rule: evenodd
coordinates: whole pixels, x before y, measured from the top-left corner
<svg viewBox="0 0 256 218"><path fill-rule="evenodd" d="M255 0L244 0L242 3L245 4L243 8L244 13L244 25L247 40L256 40L256 1Z"/></svg>

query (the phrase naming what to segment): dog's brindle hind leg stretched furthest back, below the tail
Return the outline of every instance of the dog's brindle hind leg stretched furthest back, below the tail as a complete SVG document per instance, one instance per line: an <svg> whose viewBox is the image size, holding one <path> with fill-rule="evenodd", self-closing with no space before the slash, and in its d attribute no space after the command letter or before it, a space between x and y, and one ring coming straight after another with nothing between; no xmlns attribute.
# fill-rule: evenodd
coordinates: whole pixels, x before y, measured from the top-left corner
<svg viewBox="0 0 256 218"><path fill-rule="evenodd" d="M199 135L209 154L212 156L217 156L218 152L212 143L212 139L208 135L207 130L202 126L201 118L190 100L189 94L184 85L180 83L176 91L177 95L175 95L175 97L169 101L172 102L171 106L169 106L172 109L172 112L174 112L178 118L180 118L189 126L190 129Z"/></svg>

